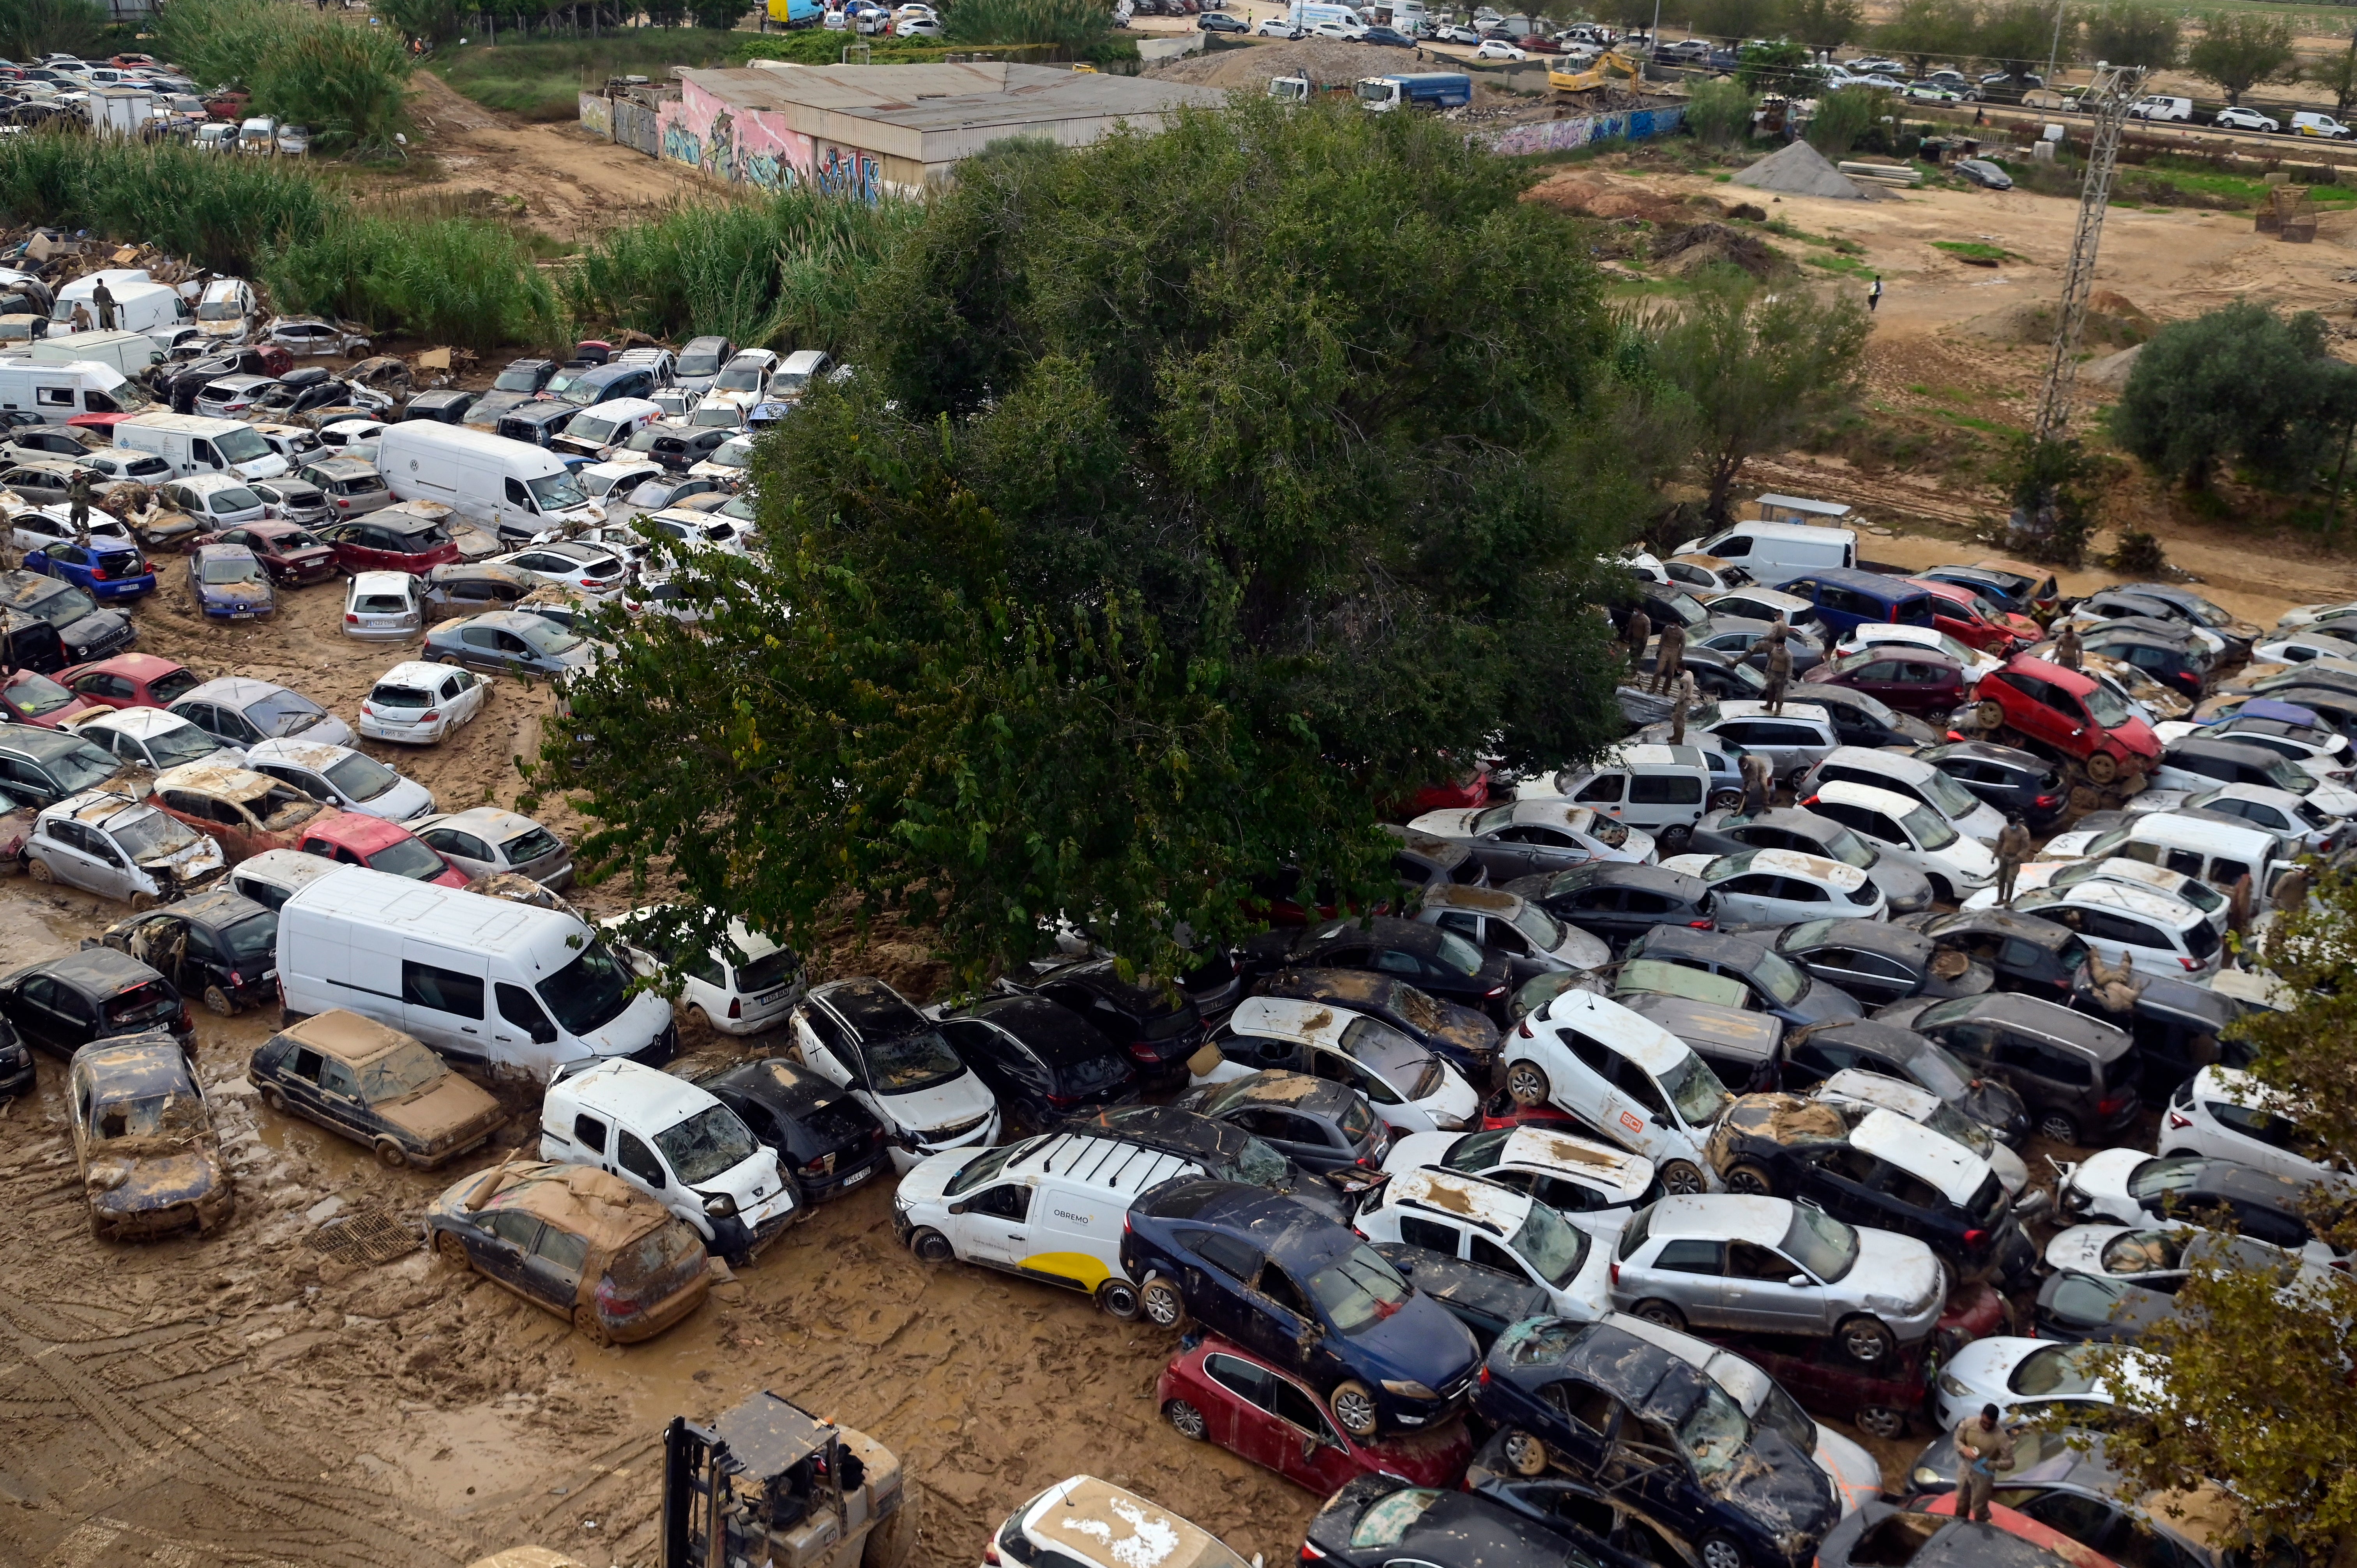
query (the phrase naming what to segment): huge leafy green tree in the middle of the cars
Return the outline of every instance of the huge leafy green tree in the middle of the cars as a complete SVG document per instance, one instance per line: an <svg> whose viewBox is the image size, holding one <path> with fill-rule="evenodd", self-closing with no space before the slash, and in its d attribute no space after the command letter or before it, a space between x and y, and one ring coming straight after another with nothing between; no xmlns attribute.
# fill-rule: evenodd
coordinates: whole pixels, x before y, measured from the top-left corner
<svg viewBox="0 0 2357 1568"><path fill-rule="evenodd" d="M1164 971L1287 865L1372 891L1379 802L1617 731L1643 377L1518 184L1266 101L971 158L761 446L766 552L615 627L535 778L610 870L804 946L896 913L969 981L1056 917Z"/></svg>

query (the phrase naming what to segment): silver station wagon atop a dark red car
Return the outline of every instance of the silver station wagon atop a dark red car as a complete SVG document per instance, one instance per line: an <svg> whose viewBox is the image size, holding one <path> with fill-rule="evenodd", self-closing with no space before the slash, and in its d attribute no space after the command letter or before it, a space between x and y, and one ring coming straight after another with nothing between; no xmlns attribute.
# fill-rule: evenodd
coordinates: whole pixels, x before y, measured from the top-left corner
<svg viewBox="0 0 2357 1568"><path fill-rule="evenodd" d="M1695 1193L1622 1231L1612 1304L1678 1330L1831 1335L1846 1358L1881 1365L1940 1323L1947 1269L1912 1236L1784 1198Z"/></svg>

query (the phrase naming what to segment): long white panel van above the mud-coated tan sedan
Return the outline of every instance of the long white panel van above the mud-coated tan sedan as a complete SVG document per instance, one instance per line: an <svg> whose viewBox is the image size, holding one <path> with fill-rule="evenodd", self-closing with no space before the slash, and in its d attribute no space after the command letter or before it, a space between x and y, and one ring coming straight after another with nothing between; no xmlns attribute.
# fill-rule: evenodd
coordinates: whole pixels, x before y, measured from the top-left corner
<svg viewBox="0 0 2357 1568"><path fill-rule="evenodd" d="M436 1052L547 1082L589 1056L660 1066L672 1004L577 915L346 865L278 910L288 1014L349 1007Z"/></svg>

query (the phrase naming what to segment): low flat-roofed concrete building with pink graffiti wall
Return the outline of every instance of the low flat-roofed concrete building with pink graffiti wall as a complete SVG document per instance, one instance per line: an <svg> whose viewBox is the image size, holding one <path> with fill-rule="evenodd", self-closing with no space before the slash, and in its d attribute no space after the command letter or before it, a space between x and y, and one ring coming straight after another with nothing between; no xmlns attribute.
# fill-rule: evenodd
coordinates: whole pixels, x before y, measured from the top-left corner
<svg viewBox="0 0 2357 1568"><path fill-rule="evenodd" d="M1006 137L1087 146L1115 125L1160 130L1178 106L1219 106L1226 97L1219 87L1006 61L761 61L742 71L679 71L679 94L662 94L655 125L658 156L719 179L773 191L816 182L874 200L884 191L943 184L959 158Z"/></svg>

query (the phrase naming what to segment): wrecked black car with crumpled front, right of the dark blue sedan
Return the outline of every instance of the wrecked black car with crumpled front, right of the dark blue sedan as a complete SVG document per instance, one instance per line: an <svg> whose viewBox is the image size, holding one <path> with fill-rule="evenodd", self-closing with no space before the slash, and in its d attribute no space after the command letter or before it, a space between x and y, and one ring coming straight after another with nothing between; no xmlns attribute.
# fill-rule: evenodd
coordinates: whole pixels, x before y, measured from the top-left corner
<svg viewBox="0 0 2357 1568"><path fill-rule="evenodd" d="M1499 1335L1473 1410L1508 1431L1516 1471L1607 1476L1711 1568L1808 1568L1841 1518L1813 1448L1612 1323L1532 1318Z"/></svg>

